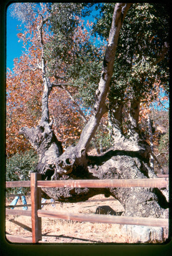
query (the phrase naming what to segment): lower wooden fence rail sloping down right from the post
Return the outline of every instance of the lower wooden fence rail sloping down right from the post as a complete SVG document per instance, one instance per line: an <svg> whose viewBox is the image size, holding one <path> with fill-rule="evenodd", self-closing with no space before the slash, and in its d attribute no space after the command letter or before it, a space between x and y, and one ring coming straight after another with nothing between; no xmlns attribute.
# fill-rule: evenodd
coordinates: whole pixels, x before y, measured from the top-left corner
<svg viewBox="0 0 172 256"><path fill-rule="evenodd" d="M123 216L101 216L91 214L72 214L69 212L38 210L38 217L57 218L62 220L98 222L108 224L123 224L123 225L144 225L154 227L168 227L168 219L156 218L140 218L140 217L123 217Z"/></svg>

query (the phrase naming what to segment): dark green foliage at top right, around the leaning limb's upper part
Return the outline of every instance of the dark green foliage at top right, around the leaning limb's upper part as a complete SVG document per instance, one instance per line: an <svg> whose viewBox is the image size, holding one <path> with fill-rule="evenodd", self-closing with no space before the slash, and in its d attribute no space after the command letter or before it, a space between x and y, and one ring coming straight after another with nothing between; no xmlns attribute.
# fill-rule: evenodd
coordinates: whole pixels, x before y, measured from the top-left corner
<svg viewBox="0 0 172 256"><path fill-rule="evenodd" d="M105 3L97 7L101 12L93 28L101 38L106 39L109 35L114 6ZM118 97L120 90L125 98L141 96L146 99L154 92L157 81L164 83L168 93L168 30L169 10L166 5L144 3L131 6L120 31L110 97Z"/></svg>

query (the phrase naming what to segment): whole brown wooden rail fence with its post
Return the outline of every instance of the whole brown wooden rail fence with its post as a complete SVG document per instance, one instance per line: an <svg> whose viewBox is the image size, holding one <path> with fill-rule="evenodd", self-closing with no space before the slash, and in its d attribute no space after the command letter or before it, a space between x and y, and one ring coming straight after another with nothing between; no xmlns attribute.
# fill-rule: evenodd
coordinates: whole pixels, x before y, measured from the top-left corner
<svg viewBox="0 0 172 256"><path fill-rule="evenodd" d="M138 179L138 180L57 180L41 181L41 174L31 173L30 181L8 181L6 187L29 187L31 188L31 210L6 209L6 215L31 216L32 220L32 241L31 243L41 242L41 218L58 218L63 220L73 220L81 222L98 222L125 225L142 225L168 227L168 219L139 218L123 216L102 216L90 214L73 214L69 212L54 212L41 210L41 187L168 187L168 178L157 179ZM7 236L8 237L8 236ZM10 236L9 236L10 237ZM20 241L13 237L13 241ZM28 242L25 241L25 242Z"/></svg>

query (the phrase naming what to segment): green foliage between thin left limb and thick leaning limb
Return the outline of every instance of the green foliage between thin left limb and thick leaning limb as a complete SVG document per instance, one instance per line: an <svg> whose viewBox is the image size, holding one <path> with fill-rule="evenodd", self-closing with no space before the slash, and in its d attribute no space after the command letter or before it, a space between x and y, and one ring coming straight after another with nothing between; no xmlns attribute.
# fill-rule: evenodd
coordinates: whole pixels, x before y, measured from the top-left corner
<svg viewBox="0 0 172 256"><path fill-rule="evenodd" d="M45 48L48 74L73 87L74 98L85 108L93 105L103 55L81 19L81 15L89 14L91 6L54 4L50 17L52 37Z"/></svg>

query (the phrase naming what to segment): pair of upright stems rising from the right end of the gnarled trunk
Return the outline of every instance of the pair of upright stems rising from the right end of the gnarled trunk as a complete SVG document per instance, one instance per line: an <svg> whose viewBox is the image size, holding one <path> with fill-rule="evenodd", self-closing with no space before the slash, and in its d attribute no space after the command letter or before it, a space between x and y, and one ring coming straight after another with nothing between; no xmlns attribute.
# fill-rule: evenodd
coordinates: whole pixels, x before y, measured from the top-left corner
<svg viewBox="0 0 172 256"><path fill-rule="evenodd" d="M114 150L133 151L140 154L145 161L149 159L150 147L142 138L139 131L140 98L131 100L130 113L128 115L128 132L123 133L122 123L123 102L112 100L109 104L109 126L113 140Z"/></svg>

